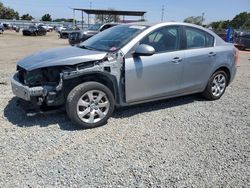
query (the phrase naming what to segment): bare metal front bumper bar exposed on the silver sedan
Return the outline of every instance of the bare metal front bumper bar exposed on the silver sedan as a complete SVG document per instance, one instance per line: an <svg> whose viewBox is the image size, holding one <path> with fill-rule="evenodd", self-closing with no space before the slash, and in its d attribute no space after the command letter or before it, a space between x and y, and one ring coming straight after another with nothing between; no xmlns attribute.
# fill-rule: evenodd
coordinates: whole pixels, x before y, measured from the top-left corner
<svg viewBox="0 0 250 188"><path fill-rule="evenodd" d="M46 94L46 90L41 86L30 88L20 83L17 74L11 77L11 87L13 94L25 101L31 101L31 97L44 96Z"/></svg>

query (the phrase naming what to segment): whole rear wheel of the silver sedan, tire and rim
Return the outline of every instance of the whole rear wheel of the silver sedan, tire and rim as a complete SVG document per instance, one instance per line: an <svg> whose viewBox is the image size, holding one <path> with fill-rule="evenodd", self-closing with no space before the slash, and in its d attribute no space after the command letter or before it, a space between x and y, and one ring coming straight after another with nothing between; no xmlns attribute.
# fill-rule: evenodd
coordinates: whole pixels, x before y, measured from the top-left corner
<svg viewBox="0 0 250 188"><path fill-rule="evenodd" d="M227 85L228 75L224 71L217 71L209 79L207 87L202 94L208 100L220 99Z"/></svg>

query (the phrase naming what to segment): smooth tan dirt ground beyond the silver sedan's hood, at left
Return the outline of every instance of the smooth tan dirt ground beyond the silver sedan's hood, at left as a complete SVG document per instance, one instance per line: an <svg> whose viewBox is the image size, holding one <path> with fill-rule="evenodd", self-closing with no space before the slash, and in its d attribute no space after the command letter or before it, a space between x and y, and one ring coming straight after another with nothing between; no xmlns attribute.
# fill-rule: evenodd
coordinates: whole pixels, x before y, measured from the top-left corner
<svg viewBox="0 0 250 188"><path fill-rule="evenodd" d="M0 71L1 73L5 70L13 72L17 60L37 51L65 45L68 45L68 41L59 39L56 32L47 33L46 36L32 37L22 36L21 32L5 31L3 35L0 35Z"/></svg>

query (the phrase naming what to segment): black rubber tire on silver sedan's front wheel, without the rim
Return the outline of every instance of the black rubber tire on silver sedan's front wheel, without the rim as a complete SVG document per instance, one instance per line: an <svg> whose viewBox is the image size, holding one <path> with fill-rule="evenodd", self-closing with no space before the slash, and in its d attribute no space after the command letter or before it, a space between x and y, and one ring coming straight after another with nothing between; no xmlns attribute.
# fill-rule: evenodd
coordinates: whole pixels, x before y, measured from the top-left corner
<svg viewBox="0 0 250 188"><path fill-rule="evenodd" d="M82 121L77 114L77 103L86 92L91 90L99 90L106 94L110 106L107 115L96 123L86 123ZM66 112L73 123L84 129L91 129L106 124L109 117L112 115L115 106L115 99L108 87L98 82L85 82L76 86L70 91L66 101Z"/></svg>

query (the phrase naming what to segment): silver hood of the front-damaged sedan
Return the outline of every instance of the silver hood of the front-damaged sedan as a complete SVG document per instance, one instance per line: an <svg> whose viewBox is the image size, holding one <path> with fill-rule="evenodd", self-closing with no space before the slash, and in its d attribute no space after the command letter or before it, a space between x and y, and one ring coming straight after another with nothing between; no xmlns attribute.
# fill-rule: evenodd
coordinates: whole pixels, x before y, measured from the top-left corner
<svg viewBox="0 0 250 188"><path fill-rule="evenodd" d="M17 62L17 65L31 71L44 67L75 65L103 59L107 52L87 50L78 47L54 48L35 53Z"/></svg>

